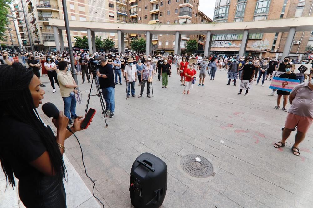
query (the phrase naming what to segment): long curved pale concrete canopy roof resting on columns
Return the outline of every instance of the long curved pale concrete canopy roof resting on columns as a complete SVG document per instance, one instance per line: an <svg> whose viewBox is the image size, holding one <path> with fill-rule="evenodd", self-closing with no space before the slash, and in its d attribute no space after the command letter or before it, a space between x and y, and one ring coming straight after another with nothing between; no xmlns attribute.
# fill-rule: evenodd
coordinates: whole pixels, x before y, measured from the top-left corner
<svg viewBox="0 0 313 208"><path fill-rule="evenodd" d="M58 29L65 30L64 20L49 19L49 25L56 26ZM84 22L69 20L70 30L86 31L90 28L94 32L143 34L150 31L155 34L172 34L176 31L180 34L242 34L244 30L249 33L274 33L288 32L290 27L295 27L296 31L313 31L313 17L297 17L277 20L262 20L252 22L227 22L227 23L208 23L208 24L125 24L125 23L106 23L106 22Z"/></svg>

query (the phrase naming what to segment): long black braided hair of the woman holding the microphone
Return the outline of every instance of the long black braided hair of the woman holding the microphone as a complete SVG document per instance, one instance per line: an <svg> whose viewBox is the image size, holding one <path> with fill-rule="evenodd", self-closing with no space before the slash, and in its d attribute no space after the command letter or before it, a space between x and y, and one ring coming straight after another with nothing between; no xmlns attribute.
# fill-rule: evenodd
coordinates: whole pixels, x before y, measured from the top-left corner
<svg viewBox="0 0 313 208"><path fill-rule="evenodd" d="M21 63L0 65L0 117L4 114L34 127L46 147L51 165L57 177L62 180L66 168L60 149L55 141L55 136L47 132L34 106L33 98L29 90L29 83L33 78L33 71L27 69ZM0 137L0 140L10 139ZM1 150L1 148L0 148ZM6 181L14 188L15 181L12 165L6 161L0 151L0 162L6 176Z"/></svg>

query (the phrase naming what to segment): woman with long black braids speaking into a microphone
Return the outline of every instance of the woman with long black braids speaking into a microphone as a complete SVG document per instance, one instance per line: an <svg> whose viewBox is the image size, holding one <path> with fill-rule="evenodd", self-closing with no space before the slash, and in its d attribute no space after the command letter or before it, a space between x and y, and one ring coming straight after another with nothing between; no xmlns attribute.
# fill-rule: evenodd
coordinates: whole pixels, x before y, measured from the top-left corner
<svg viewBox="0 0 313 208"><path fill-rule="evenodd" d="M32 70L21 63L0 65L0 162L12 187L14 176L19 179L19 197L26 207L64 208L62 155L64 140L72 133L63 112L52 119L56 136L44 124L36 110L44 93ZM73 132L82 130L81 118L75 119Z"/></svg>

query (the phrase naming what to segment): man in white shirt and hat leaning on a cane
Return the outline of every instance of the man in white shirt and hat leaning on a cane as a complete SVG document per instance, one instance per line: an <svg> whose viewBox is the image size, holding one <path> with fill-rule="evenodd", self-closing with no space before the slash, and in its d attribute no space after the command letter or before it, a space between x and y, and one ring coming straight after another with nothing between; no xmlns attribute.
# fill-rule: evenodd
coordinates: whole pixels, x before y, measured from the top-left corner
<svg viewBox="0 0 313 208"><path fill-rule="evenodd" d="M128 65L125 66L125 77L127 83L127 98L129 98L129 91L131 88L131 96L136 97L135 95L135 82L137 81L137 69L133 64L133 60L127 60Z"/></svg>

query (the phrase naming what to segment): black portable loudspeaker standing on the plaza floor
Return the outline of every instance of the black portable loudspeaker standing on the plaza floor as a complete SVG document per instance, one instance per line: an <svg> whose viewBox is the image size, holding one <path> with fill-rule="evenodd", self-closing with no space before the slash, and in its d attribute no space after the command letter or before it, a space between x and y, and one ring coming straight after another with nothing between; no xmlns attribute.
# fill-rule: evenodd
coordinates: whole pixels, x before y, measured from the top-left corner
<svg viewBox="0 0 313 208"><path fill-rule="evenodd" d="M135 208L158 208L167 188L167 166L160 158L142 153L131 167L129 193Z"/></svg>

